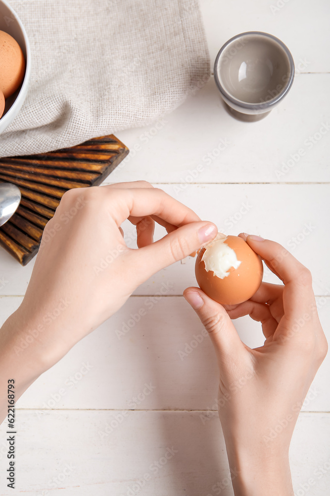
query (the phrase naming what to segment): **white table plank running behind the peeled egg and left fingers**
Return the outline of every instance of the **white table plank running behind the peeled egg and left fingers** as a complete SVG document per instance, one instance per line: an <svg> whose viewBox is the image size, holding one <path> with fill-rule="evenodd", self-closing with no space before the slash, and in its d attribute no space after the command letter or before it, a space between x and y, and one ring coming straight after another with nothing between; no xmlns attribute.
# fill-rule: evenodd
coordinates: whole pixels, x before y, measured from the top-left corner
<svg viewBox="0 0 330 496"><path fill-rule="evenodd" d="M330 294L330 259L323 227L330 211L328 185L189 185L178 194L175 189L178 184L158 186L227 234L248 232L278 241L312 271L315 293ZM247 208L242 209L243 204ZM22 199L22 205L32 211L35 208L46 218L53 215L54 210L28 198ZM305 224L310 231L306 231ZM125 222L123 228L128 246L136 248L134 226ZM165 230L156 226L155 240L164 234ZM297 236L299 240L294 241ZM29 273L24 271L22 277L18 276L8 257L0 257L0 274L9 281L8 286L0 287L0 294L6 291L11 295L24 294ZM195 285L194 260L188 257L184 263L160 270L141 284L135 294L154 295L164 280L172 284L169 294L182 295L185 288ZM265 270L265 280L276 282L277 278Z"/></svg>

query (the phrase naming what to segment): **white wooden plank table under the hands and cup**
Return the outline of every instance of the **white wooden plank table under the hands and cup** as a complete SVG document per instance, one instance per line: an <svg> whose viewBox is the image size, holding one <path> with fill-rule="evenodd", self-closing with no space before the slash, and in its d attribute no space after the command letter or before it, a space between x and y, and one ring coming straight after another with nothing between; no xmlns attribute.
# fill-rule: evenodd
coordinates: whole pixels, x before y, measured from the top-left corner
<svg viewBox="0 0 330 496"><path fill-rule="evenodd" d="M145 179L227 234L244 231L283 244L313 273L330 339L330 132L319 134L321 127L330 130L330 4L201 3L212 63L235 34L272 33L296 63L290 93L265 120L240 123L226 113L212 77L157 126L117 134L131 153L109 182ZM292 165L300 148L306 153ZM131 239L130 226L126 233ZM160 229L157 233L162 235ZM22 268L0 251L2 321L18 307L32 268L33 262ZM265 279L275 280L269 272ZM1 495L233 494L214 411L213 349L182 297L190 285L195 285L194 260L162 270L19 399L17 489L7 489L4 481L3 424ZM164 296L157 296L160 291ZM146 312L137 321L141 309ZM236 320L236 328L248 345L263 343L251 319ZM296 496L329 495L329 376L328 358L292 440Z"/></svg>

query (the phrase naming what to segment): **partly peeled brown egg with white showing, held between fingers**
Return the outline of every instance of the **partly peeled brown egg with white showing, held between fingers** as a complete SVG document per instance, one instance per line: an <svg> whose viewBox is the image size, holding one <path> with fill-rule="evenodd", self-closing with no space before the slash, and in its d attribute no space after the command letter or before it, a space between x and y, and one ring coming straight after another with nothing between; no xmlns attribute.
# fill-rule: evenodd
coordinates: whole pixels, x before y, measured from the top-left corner
<svg viewBox="0 0 330 496"><path fill-rule="evenodd" d="M260 256L242 238L219 233L198 253L195 274L198 286L212 300L237 305L259 288L263 265Z"/></svg>

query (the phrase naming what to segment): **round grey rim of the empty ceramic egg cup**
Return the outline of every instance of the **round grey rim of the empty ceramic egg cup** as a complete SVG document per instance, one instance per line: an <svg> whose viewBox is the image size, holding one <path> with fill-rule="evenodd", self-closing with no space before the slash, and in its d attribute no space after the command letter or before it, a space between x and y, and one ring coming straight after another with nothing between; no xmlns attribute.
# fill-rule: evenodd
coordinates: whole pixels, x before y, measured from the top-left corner
<svg viewBox="0 0 330 496"><path fill-rule="evenodd" d="M230 93L228 93L226 91L226 89L221 84L221 81L220 81L220 79L218 77L218 66L219 66L219 62L220 62L221 56L222 56L223 52L225 51L225 49L233 41L235 41L238 38L241 38L243 36L247 36L247 35L261 35L261 36L264 36L264 37L266 37L268 39L271 39L272 41L275 41L283 49L283 51L285 52L285 54L286 54L286 56L287 56L287 58L289 60L290 73L289 73L288 80L287 80L285 86L283 87L283 90L281 91L281 93L279 95L277 95L276 97L270 99L267 102L248 103L248 102L244 102L242 100L239 100L238 98L235 98L233 95L231 95ZM286 93L291 88L292 83L293 83L293 79L294 79L295 69L294 69L294 60L293 60L293 57L291 55L291 52L289 51L289 49L287 48L287 46L284 45L283 41L281 41L276 36L274 36L274 35L272 35L270 33L265 33L263 31L245 31L244 33L239 33L236 36L233 36L230 40L226 41L226 43L221 47L221 49L219 50L219 52L218 52L218 54L216 56L215 62L214 62L213 73L214 73L215 83L216 83L216 85L217 85L217 87L218 87L221 95L223 97L225 97L226 99L228 99L231 103L235 104L238 107L241 107L242 109L247 109L247 110L261 110L261 109L265 109L265 112L267 112L270 107L273 107L280 100L282 100L282 98L286 95Z"/></svg>

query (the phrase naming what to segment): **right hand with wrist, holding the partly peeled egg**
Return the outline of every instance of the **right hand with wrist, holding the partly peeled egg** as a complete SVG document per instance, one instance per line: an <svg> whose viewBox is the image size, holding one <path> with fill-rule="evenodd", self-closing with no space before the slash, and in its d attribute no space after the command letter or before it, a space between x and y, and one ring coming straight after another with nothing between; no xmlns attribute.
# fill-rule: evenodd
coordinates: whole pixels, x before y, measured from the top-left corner
<svg viewBox="0 0 330 496"><path fill-rule="evenodd" d="M262 283L250 300L225 308L199 288L184 296L216 351L219 417L235 495L291 496L289 444L328 344L310 272L281 245L246 236L240 235L284 286ZM231 321L247 314L262 323L266 340L260 348L244 345Z"/></svg>

